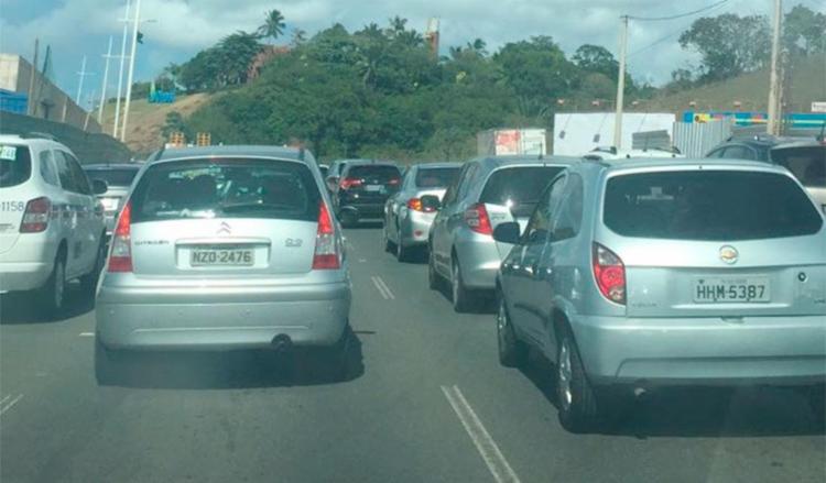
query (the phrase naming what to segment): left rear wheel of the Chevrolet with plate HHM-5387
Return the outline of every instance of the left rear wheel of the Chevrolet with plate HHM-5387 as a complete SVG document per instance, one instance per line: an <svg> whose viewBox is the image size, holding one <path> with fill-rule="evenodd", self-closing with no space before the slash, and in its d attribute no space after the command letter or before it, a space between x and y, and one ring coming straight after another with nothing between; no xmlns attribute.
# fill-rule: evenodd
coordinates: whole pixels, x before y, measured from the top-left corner
<svg viewBox="0 0 826 483"><path fill-rule="evenodd" d="M588 431L598 418L597 399L574 337L566 328L559 338L555 373L559 422L570 432Z"/></svg>

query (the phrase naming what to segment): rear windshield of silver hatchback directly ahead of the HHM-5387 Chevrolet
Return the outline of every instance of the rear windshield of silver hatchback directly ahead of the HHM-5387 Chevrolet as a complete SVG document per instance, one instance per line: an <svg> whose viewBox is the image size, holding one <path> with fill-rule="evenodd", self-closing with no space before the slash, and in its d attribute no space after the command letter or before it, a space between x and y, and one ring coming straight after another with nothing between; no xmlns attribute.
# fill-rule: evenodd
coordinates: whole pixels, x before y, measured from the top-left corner
<svg viewBox="0 0 826 483"><path fill-rule="evenodd" d="M502 205L517 217L528 217L561 166L515 166L493 172L479 201Z"/></svg>

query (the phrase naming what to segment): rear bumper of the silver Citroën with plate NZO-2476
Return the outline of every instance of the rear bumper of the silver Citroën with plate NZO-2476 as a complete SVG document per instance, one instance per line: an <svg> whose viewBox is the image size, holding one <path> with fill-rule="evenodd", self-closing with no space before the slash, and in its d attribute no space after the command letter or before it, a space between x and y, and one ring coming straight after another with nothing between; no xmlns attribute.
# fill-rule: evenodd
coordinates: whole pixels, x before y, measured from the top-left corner
<svg viewBox="0 0 826 483"><path fill-rule="evenodd" d="M115 349L267 348L276 336L295 345L333 345L347 326L348 283L285 287L152 289L101 286L97 333Z"/></svg>

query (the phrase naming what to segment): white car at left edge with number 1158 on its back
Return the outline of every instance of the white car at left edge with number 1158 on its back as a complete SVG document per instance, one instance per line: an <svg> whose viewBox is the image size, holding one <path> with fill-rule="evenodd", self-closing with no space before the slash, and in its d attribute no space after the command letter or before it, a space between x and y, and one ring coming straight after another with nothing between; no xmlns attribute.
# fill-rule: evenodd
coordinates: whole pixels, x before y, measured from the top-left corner
<svg viewBox="0 0 826 483"><path fill-rule="evenodd" d="M94 292L105 262L106 183L89 183L72 151L43 138L0 134L0 294L34 292L59 315L66 283Z"/></svg>

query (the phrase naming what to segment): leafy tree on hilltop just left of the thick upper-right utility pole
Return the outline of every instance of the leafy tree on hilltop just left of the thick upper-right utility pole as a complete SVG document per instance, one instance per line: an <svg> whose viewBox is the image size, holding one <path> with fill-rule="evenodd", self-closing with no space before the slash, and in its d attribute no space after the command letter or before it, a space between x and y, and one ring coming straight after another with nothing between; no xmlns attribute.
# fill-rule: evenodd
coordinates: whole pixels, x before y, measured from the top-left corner
<svg viewBox="0 0 826 483"><path fill-rule="evenodd" d="M699 78L724 80L764 66L771 34L765 17L724 13L696 20L680 36L680 45L702 56Z"/></svg>

